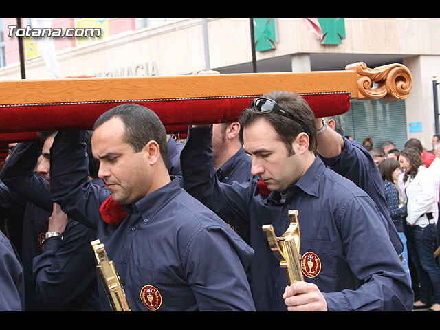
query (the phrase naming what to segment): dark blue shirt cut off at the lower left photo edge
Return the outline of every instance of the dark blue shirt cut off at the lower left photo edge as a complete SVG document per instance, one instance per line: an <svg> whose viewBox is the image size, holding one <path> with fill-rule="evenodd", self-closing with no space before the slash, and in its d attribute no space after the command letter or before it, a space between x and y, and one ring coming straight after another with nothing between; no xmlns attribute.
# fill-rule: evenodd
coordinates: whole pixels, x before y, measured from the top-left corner
<svg viewBox="0 0 440 330"><path fill-rule="evenodd" d="M23 311L24 289L23 266L19 256L0 232L0 311Z"/></svg>

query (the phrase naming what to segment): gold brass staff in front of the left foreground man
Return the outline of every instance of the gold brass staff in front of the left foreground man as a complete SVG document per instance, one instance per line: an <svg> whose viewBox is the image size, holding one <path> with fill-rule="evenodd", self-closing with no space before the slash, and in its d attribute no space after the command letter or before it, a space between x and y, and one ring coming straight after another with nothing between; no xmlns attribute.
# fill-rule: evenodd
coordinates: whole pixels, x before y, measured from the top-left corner
<svg viewBox="0 0 440 330"><path fill-rule="evenodd" d="M111 308L113 311L131 311L115 265L113 265L113 261L109 260L107 252L105 252L104 244L102 244L99 239L90 243L94 248L95 256L98 260L96 268L104 284L104 289L109 298Z"/></svg>

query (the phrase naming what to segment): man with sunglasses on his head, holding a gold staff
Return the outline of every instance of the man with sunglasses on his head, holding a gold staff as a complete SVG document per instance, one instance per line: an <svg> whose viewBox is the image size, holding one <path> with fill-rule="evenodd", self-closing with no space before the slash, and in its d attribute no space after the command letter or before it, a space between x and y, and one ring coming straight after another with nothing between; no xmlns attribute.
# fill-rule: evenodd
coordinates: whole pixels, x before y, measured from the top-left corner
<svg viewBox="0 0 440 330"><path fill-rule="evenodd" d="M256 310L411 310L412 289L385 220L366 192L316 157L317 129L307 102L292 92L265 94L239 122L254 179L216 179L209 126L190 128L181 167L188 192L230 225L249 230ZM262 230L271 224L283 235L289 210L298 210L305 278L292 285Z"/></svg>

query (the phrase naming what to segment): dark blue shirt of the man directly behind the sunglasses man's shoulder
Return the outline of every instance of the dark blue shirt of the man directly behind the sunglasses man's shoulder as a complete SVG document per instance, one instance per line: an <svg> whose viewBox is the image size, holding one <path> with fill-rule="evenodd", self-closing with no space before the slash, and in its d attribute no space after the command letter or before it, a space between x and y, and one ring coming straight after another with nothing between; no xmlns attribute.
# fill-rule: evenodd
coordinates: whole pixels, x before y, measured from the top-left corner
<svg viewBox="0 0 440 330"><path fill-rule="evenodd" d="M344 136L342 136L342 139L344 140L342 153L330 159L320 157L322 162L336 173L353 181L373 199L384 215L384 224L397 254L401 254L404 245L401 243L399 234L391 220L379 168L377 168L371 154L366 151L360 142L351 141Z"/></svg>

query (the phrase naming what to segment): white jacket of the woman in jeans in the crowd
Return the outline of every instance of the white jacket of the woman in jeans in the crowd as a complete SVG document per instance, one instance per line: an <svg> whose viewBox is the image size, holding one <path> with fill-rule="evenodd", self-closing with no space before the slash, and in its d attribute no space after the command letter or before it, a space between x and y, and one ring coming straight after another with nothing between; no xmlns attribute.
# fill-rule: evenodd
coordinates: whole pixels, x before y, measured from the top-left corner
<svg viewBox="0 0 440 330"><path fill-rule="evenodd" d="M437 208L437 196L435 193L432 174L425 166L420 166L417 175L408 177L405 183L407 216L406 223L409 225L427 225L426 213L432 212L434 219L431 223L437 223L439 209Z"/></svg>

